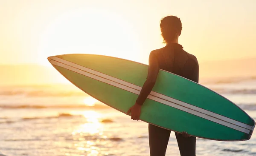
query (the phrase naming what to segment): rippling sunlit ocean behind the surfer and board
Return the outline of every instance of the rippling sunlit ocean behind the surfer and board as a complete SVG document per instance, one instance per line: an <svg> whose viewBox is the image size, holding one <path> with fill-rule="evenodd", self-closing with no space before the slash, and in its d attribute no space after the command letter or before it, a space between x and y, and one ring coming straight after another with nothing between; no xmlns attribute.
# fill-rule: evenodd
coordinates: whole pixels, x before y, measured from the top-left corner
<svg viewBox="0 0 256 156"><path fill-rule="evenodd" d="M256 120L255 77L202 84ZM1 86L0 112L0 156L149 156L147 123L131 120L73 85ZM241 142L198 138L196 154L256 156L256 134ZM178 155L172 132L166 156Z"/></svg>

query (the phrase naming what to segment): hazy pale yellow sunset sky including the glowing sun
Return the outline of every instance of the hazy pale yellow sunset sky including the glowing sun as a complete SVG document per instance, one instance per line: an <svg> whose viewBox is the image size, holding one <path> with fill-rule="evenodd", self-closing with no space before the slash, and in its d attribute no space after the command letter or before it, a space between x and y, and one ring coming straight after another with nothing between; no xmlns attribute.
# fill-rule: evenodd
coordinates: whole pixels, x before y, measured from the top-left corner
<svg viewBox="0 0 256 156"><path fill-rule="evenodd" d="M0 64L103 54L148 63L160 19L180 17L180 44L207 60L256 57L256 0L0 0Z"/></svg>

